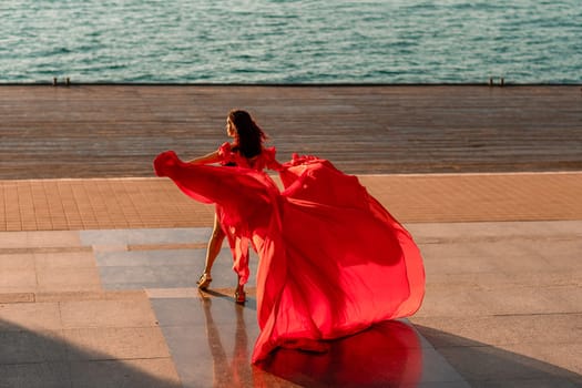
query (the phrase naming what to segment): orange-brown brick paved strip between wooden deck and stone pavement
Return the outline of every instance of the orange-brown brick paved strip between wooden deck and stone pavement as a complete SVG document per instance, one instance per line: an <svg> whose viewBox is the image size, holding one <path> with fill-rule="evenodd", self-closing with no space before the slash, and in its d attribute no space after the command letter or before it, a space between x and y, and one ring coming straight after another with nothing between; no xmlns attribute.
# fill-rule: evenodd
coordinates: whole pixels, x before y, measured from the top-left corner
<svg viewBox="0 0 582 388"><path fill-rule="evenodd" d="M398 219L582 219L582 172L361 175ZM210 226L214 208L165 178L0 181L0 231Z"/></svg>

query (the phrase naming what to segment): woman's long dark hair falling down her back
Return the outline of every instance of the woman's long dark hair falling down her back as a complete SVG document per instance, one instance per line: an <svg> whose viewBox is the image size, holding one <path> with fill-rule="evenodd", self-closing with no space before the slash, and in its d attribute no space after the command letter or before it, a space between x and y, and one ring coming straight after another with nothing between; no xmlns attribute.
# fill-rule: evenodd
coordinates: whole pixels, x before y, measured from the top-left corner
<svg viewBox="0 0 582 388"><path fill-rule="evenodd" d="M267 139L263 130L255 123L247 111L232 110L228 119L236 126L234 150L245 157L253 157L261 153L263 142Z"/></svg>

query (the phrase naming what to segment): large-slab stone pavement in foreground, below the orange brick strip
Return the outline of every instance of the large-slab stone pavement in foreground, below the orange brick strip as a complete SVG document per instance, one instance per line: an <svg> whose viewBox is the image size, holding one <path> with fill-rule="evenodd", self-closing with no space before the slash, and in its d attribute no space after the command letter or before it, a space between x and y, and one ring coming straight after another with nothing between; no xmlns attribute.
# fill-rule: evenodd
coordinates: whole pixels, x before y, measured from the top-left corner
<svg viewBox="0 0 582 388"><path fill-rule="evenodd" d="M442 208L438 183L455 176L431 176L423 212ZM580 206L580 175L575 182L555 201ZM327 354L279 350L261 367L249 364L254 277L248 302L236 305L224 247L211 289L195 287L207 219L0 232L0 387L581 387L580 213L549 217L532 203L528 221L511 210L500 221L501 201L472 208L456 201L480 216L401 218L427 272L415 316L334 341ZM253 256L252 274L256 263Z"/></svg>

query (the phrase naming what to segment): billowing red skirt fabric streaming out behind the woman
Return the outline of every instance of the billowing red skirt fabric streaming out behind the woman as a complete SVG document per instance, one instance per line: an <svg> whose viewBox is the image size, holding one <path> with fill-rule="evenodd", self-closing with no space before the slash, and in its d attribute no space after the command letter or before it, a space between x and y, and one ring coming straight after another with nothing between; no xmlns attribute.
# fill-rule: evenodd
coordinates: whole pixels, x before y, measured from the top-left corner
<svg viewBox="0 0 582 388"><path fill-rule="evenodd" d="M192 165L172 151L154 167L186 195L219 205L223 227L257 252L253 363L277 347L325 350L325 340L420 307L425 270L412 237L330 162L294 156L279 165L284 192L263 172Z"/></svg>

